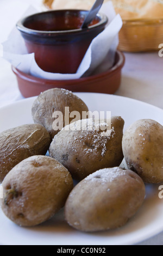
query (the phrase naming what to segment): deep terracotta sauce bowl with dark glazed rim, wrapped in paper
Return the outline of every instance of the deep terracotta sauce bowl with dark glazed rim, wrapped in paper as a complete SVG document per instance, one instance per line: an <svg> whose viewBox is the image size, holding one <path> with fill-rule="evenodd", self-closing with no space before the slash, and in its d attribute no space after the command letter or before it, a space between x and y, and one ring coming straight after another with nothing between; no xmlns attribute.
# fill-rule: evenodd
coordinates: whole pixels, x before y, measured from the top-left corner
<svg viewBox="0 0 163 256"><path fill-rule="evenodd" d="M56 10L37 13L17 22L28 53L47 72L76 73L93 38L101 33L108 17L97 14L88 28L80 28L88 11Z"/></svg>

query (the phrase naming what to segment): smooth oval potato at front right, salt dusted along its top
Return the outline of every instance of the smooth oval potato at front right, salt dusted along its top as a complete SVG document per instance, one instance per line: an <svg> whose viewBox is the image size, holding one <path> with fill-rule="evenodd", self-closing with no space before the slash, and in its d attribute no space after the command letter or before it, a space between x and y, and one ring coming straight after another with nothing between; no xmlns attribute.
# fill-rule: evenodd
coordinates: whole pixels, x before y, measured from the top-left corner
<svg viewBox="0 0 163 256"><path fill-rule="evenodd" d="M122 227L135 215L145 198L139 175L119 167L96 171L80 181L65 205L65 218L85 232Z"/></svg>

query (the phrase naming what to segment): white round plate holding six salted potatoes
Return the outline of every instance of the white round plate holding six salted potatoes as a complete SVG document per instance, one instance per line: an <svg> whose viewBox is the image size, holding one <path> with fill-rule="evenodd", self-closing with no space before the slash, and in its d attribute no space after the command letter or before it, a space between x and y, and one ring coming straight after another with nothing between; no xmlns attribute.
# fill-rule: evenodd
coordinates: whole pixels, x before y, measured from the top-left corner
<svg viewBox="0 0 163 256"><path fill-rule="evenodd" d="M136 120L151 118L163 125L163 110L126 97L76 93L90 111L111 111L121 115L125 127ZM31 108L35 97L0 108L0 132L18 125L33 123ZM59 214L34 228L22 228L8 220L0 210L1 245L133 245L163 231L163 199L159 199L159 185L146 186L146 199L141 209L122 228L98 233L82 233L64 221Z"/></svg>

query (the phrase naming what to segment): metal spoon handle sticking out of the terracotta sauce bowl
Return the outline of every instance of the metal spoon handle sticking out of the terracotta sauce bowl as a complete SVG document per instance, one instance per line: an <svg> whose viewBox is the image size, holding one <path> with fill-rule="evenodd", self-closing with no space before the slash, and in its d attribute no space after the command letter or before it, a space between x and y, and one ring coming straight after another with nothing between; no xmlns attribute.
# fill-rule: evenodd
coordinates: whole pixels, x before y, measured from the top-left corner
<svg viewBox="0 0 163 256"><path fill-rule="evenodd" d="M87 28L87 26L91 23L91 21L96 17L96 14L98 13L99 9L101 8L104 0L96 0L96 2L93 4L91 10L86 15L85 20L82 24L81 28Z"/></svg>

